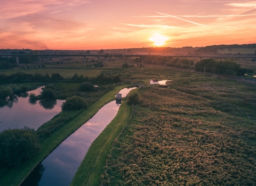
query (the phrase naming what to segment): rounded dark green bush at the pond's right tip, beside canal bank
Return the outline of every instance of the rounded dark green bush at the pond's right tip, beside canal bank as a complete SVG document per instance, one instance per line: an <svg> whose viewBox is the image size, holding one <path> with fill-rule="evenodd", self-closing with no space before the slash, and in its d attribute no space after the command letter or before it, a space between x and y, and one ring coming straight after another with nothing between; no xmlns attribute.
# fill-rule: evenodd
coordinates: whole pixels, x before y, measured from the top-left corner
<svg viewBox="0 0 256 186"><path fill-rule="evenodd" d="M82 108L87 108L87 103L84 98L79 96L73 96L71 98L67 98L66 102L62 104L62 110L67 111L77 111Z"/></svg>

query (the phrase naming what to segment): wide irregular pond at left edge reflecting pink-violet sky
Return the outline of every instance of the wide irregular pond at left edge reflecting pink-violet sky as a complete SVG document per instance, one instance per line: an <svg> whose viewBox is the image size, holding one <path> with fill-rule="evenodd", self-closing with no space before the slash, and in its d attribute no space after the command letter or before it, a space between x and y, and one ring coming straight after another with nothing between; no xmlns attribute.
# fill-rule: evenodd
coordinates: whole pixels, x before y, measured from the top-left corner
<svg viewBox="0 0 256 186"><path fill-rule="evenodd" d="M36 95L40 88L29 91ZM36 101L29 103L28 94L14 95L0 107L0 131L4 129L23 128L25 125L35 130L61 112L64 100Z"/></svg>

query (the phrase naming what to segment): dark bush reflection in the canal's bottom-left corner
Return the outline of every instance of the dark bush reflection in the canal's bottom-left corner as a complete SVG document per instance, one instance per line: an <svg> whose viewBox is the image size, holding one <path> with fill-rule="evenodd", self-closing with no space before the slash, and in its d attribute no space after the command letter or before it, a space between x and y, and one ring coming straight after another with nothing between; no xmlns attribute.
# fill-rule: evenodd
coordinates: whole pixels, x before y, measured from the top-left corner
<svg viewBox="0 0 256 186"><path fill-rule="evenodd" d="M39 181L42 178L42 175L45 170L45 166L42 163L39 163L28 176L29 179L25 179L20 186L38 186Z"/></svg>

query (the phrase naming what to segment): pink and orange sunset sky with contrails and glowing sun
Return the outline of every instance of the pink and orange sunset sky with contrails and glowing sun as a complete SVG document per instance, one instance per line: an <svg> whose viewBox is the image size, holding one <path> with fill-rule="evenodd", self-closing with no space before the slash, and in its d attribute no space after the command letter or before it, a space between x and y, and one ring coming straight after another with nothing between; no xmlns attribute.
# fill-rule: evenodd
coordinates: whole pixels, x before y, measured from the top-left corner
<svg viewBox="0 0 256 186"><path fill-rule="evenodd" d="M0 48L114 49L256 43L256 2L0 0ZM155 41L155 40L158 40Z"/></svg>

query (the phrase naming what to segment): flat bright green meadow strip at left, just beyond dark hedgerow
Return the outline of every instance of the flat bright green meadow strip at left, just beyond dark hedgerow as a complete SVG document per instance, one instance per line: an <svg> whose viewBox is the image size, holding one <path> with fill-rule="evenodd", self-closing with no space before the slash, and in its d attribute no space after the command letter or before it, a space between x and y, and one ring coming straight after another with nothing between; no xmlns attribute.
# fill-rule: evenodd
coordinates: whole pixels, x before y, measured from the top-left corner
<svg viewBox="0 0 256 186"><path fill-rule="evenodd" d="M53 73L59 73L61 76L64 78L68 77L73 77L75 73L78 75L83 75L84 77L96 77L99 75L103 70L101 69L55 69L55 68L46 68L46 69L22 69L22 70L11 70L11 71L1 71L0 73L6 74L6 75L11 75L17 72L23 72L27 74L35 74L35 73L41 73L41 74L46 74L48 73L50 76Z"/></svg>

